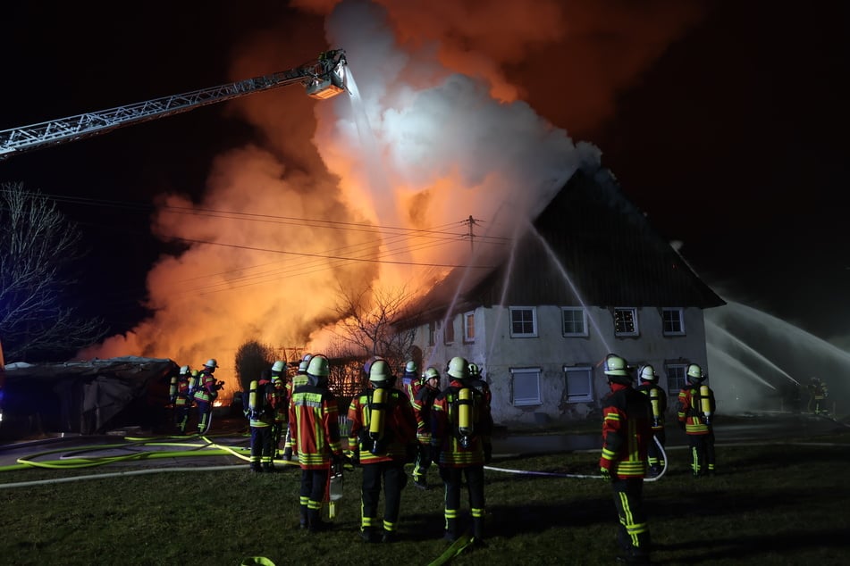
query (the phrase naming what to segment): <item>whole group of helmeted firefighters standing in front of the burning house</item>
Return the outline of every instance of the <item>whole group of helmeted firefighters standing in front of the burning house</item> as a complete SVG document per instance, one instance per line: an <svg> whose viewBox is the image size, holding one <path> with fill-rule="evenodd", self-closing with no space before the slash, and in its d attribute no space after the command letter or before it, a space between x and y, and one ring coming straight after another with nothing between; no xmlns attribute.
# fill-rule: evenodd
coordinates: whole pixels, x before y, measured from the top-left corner
<svg viewBox="0 0 850 566"><path fill-rule="evenodd" d="M223 385L212 375L217 366L210 359L198 372L181 368L181 376L190 376L178 379L173 397L181 432L185 432L193 397L198 404L198 432L208 429L206 405L212 404ZM668 399L652 365L637 368L637 387L632 370L617 354L605 359L610 394L602 407L599 467L613 488L619 544L627 562L641 563L649 561L650 552L643 482L644 477L657 477L665 466ZM449 384L443 388L440 370L431 366L420 375L413 361L405 365L399 387L386 360L367 362L364 371L368 386L349 404L348 447L343 451L339 404L328 388L327 357L308 354L291 380L286 363L274 362L271 370L251 383L243 402L251 429L250 470L274 470L281 446L282 461L297 457L300 526L317 532L327 528L321 510L332 477L341 474L345 462L361 468L360 536L375 543L396 539L401 491L408 483L405 465L413 464L414 485L428 489L427 473L435 463L445 487L444 538L453 542L467 530L459 525L465 485L471 541L483 545L484 465L492 459L493 421L490 387L479 368L462 357L451 358L445 368ZM688 438L695 478L713 475L715 470L712 419L716 402L705 379L698 364L689 364L686 385L678 394L677 422ZM182 404L181 397L186 400ZM383 518L379 520L382 488Z"/></svg>

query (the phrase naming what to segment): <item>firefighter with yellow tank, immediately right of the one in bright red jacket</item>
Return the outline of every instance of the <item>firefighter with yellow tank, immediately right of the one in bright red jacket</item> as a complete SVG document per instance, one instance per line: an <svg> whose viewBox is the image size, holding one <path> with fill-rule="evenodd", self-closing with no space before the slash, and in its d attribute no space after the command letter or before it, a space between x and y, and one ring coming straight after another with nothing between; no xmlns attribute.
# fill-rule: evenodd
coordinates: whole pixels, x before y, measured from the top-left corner
<svg viewBox="0 0 850 566"><path fill-rule="evenodd" d="M369 387L349 405L349 459L363 467L360 537L367 543L396 540L401 490L408 483L404 464L414 454L417 421L408 396L392 387L390 364L369 367ZM378 501L383 483L383 528Z"/></svg>

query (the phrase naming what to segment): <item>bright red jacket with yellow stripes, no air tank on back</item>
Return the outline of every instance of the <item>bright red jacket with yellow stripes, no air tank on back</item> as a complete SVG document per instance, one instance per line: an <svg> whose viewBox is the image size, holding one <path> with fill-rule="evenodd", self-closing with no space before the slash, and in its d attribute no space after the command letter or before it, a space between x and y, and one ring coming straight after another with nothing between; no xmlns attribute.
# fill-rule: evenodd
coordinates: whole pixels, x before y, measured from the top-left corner
<svg viewBox="0 0 850 566"><path fill-rule="evenodd" d="M325 387L296 387L290 400L290 437L301 470L330 470L332 455L342 455L340 409Z"/></svg>

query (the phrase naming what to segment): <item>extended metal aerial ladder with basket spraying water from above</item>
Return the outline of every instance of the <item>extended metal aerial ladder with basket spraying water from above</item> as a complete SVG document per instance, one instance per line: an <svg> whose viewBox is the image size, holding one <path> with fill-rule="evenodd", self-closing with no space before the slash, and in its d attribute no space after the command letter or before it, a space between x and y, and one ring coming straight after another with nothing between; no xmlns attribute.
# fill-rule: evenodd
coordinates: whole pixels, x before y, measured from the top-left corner
<svg viewBox="0 0 850 566"><path fill-rule="evenodd" d="M202 88L181 95L163 96L109 110L86 112L22 128L0 130L0 161L31 149L97 136L130 124L156 120L188 112L200 106L295 83L300 83L307 89L307 96L325 100L348 90L346 65L345 51L334 49L319 54L315 61L289 71L239 80L218 87Z"/></svg>

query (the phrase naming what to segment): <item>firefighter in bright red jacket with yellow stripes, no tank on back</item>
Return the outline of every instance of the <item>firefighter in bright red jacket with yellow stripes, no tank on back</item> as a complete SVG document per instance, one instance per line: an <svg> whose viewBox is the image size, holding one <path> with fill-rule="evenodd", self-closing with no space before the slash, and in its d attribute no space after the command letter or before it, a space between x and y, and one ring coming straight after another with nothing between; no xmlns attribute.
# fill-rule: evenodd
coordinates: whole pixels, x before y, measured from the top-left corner
<svg viewBox="0 0 850 566"><path fill-rule="evenodd" d="M301 529L316 533L327 528L321 519L328 500L331 471L342 473L339 406L328 390L330 364L324 355L307 364L307 385L295 388L290 401L291 447L301 467L299 497Z"/></svg>

